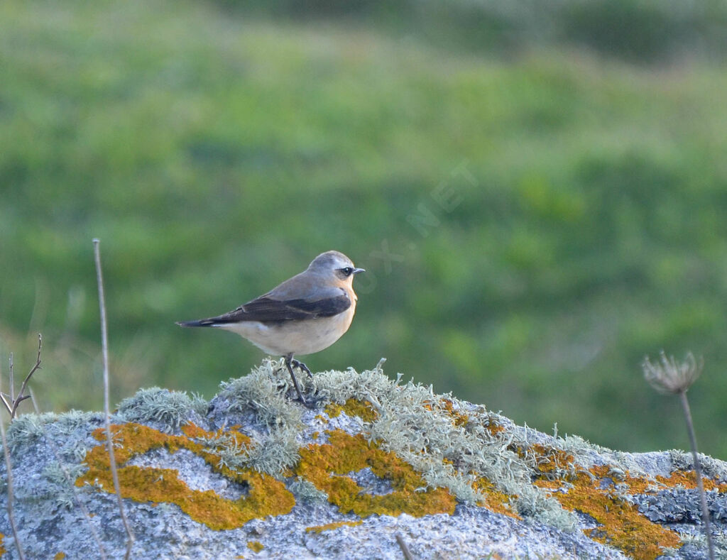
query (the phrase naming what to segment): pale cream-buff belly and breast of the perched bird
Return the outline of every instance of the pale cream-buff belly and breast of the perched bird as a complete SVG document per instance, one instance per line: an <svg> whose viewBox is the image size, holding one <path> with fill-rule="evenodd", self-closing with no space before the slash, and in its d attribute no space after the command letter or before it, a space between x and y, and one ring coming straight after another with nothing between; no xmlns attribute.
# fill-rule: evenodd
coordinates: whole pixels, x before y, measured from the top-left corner
<svg viewBox="0 0 727 560"><path fill-rule="evenodd" d="M328 348L345 333L356 311L352 305L345 312L333 317L319 317L302 321L289 321L280 325L265 325L262 322L238 322L220 325L230 330L263 352L274 356L286 354L314 354Z"/></svg>

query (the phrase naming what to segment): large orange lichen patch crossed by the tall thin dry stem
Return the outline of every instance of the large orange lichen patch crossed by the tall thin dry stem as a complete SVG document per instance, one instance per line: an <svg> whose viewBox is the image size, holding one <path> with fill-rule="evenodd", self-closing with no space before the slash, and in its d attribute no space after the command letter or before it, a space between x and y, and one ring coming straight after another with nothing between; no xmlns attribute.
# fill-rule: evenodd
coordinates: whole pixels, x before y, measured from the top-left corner
<svg viewBox="0 0 727 560"><path fill-rule="evenodd" d="M247 445L249 437L236 430L207 432L188 424L182 429L184 436L173 436L136 423L112 426L114 454L119 471L121 495L138 502L175 503L192 519L211 529L234 529L257 517L287 514L295 500L285 485L268 474L251 469L233 469L224 466L220 457L205 448L204 439L214 441L222 435ZM191 437L190 435L191 434ZM94 437L105 439L105 431L97 429ZM203 442L197 442L202 439ZM249 492L237 500L228 500L212 490L192 490L172 468L151 468L126 465L137 455L164 447L169 453L189 450L199 455L214 471L243 484ZM76 480L77 486L96 484L100 490L113 492L113 480L106 445L97 445L86 455L89 470Z"/></svg>

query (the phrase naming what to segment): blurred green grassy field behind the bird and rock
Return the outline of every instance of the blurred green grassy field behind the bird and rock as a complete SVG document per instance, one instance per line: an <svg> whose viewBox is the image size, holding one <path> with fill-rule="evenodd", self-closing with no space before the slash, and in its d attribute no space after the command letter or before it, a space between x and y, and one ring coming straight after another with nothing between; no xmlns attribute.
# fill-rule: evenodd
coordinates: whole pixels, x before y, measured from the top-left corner
<svg viewBox="0 0 727 560"><path fill-rule="evenodd" d="M44 410L206 397L262 353L182 330L343 251L371 368L623 450L727 458L727 4L0 3L0 365ZM7 383L7 378L4 379ZM29 410L28 405L23 405Z"/></svg>

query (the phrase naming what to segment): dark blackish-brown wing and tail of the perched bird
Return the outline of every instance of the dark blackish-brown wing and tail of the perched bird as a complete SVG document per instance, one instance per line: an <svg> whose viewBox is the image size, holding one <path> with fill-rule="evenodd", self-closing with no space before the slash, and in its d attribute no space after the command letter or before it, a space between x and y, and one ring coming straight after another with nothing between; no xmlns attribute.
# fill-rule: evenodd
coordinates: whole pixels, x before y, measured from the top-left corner
<svg viewBox="0 0 727 560"><path fill-rule="evenodd" d="M316 317L332 317L351 307L351 300L345 291L338 295L316 299L273 299L265 294L257 299L248 301L237 309L199 321L180 323L185 327L204 327L220 325L227 322L260 321L284 322L290 320L315 319Z"/></svg>

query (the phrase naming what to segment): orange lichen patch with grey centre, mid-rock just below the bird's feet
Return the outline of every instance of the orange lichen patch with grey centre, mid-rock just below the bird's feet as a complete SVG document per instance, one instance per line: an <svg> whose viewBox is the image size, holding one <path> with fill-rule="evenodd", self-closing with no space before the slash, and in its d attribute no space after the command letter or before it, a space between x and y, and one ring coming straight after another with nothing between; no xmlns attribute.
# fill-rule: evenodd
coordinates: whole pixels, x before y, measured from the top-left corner
<svg viewBox="0 0 727 560"><path fill-rule="evenodd" d="M344 514L397 516L403 513L420 517L428 514L454 513L456 501L443 488L421 490L427 486L422 476L395 453L379 449L362 434L352 436L342 430L326 431L328 443L311 444L300 450L296 474L303 476L329 497ZM362 468L390 481L393 492L371 495L350 476ZM338 476L337 476L338 475Z"/></svg>

